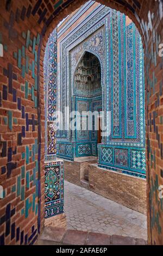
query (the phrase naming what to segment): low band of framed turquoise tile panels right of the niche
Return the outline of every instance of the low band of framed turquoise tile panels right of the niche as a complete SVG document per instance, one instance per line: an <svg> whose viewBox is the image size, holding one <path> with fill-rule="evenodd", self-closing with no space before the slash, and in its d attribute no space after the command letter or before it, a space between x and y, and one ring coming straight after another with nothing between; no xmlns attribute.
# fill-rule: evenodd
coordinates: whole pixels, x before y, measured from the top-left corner
<svg viewBox="0 0 163 256"><path fill-rule="evenodd" d="M98 145L98 166L146 178L146 151L140 148Z"/></svg>

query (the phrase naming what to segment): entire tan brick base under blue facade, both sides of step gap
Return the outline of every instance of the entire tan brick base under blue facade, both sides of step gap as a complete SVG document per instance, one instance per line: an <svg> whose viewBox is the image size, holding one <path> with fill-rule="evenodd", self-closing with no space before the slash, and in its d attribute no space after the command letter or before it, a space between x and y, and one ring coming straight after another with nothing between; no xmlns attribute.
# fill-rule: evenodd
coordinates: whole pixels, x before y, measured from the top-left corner
<svg viewBox="0 0 163 256"><path fill-rule="evenodd" d="M130 209L147 214L147 181L97 167L96 164L64 161L65 180L83 186L83 166L89 173L89 190Z"/></svg>

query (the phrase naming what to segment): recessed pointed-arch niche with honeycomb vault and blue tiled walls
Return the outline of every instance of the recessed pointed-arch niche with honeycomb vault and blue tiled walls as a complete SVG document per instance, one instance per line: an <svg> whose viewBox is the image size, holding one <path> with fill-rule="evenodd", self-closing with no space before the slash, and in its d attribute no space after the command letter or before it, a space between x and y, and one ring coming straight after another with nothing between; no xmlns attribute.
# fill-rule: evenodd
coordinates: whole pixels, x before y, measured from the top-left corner
<svg viewBox="0 0 163 256"><path fill-rule="evenodd" d="M95 122L97 124L95 118L98 117L94 115L92 118L87 115L87 112L92 111L95 101L95 110L97 112L102 111L101 65L98 58L90 52L84 53L74 72L73 96L75 110L78 112L75 136L78 143L76 157L97 156L97 141L101 139L101 136L99 137L97 133L97 127L95 127Z"/></svg>

